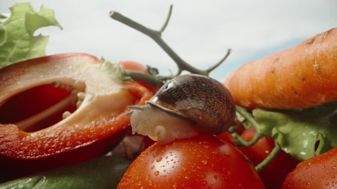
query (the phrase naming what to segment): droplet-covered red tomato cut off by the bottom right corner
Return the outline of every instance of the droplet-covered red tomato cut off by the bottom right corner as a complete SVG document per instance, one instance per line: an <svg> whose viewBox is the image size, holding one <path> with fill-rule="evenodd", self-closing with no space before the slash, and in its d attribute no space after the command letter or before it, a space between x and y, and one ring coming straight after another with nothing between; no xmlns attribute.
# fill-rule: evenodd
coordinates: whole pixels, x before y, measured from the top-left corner
<svg viewBox="0 0 337 189"><path fill-rule="evenodd" d="M282 189L337 189L337 147L299 163Z"/></svg>

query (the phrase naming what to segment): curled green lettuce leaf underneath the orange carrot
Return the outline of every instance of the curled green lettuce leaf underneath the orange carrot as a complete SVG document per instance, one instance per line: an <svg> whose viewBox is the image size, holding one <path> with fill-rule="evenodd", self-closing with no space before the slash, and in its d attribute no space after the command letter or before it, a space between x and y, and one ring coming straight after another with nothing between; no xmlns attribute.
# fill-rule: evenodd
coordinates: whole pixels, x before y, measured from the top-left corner
<svg viewBox="0 0 337 189"><path fill-rule="evenodd" d="M337 146L336 109L337 102L302 110L258 108L253 115L263 134L277 133L282 150L303 161Z"/></svg>

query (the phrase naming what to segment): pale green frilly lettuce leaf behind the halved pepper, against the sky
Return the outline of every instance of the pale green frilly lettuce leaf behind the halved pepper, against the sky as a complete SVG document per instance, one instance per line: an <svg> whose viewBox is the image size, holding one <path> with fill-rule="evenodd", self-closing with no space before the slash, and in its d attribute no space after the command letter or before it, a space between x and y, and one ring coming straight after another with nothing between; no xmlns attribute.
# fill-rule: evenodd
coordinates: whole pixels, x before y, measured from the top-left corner
<svg viewBox="0 0 337 189"><path fill-rule="evenodd" d="M36 29L47 26L62 29L54 11L43 5L39 12L29 2L16 3L9 9L10 17L0 25L0 68L45 55L49 36L34 36Z"/></svg>

